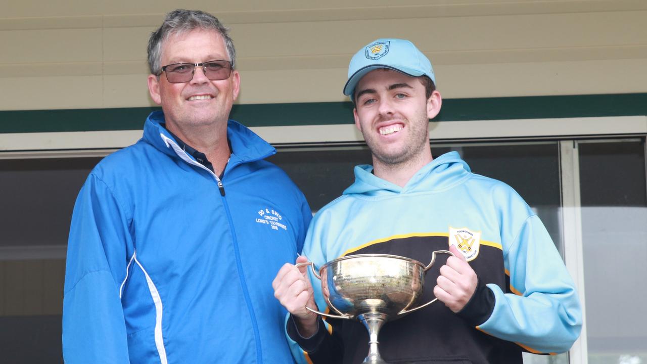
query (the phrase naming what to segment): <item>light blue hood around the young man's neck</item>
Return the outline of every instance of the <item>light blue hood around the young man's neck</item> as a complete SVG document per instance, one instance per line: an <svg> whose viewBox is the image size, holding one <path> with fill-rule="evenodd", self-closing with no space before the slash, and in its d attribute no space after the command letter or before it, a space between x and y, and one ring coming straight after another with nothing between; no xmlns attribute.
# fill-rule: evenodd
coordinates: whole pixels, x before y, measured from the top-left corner
<svg viewBox="0 0 647 364"><path fill-rule="evenodd" d="M410 181L400 187L373 174L373 166L355 167L355 183L344 190L344 194L365 194L387 196L412 192L440 191L462 183L472 175L470 167L458 152L449 152L433 159L420 168Z"/></svg>

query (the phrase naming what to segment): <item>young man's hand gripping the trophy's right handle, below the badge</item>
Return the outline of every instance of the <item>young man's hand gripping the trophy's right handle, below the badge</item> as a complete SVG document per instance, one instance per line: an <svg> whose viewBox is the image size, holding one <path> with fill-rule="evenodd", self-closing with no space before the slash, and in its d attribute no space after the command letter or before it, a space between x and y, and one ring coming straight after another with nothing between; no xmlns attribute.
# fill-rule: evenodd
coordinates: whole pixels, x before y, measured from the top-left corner
<svg viewBox="0 0 647 364"><path fill-rule="evenodd" d="M459 312L474 295L478 279L465 256L454 245L450 246L450 251L455 256L447 258L447 263L441 267L433 294L452 312Z"/></svg>

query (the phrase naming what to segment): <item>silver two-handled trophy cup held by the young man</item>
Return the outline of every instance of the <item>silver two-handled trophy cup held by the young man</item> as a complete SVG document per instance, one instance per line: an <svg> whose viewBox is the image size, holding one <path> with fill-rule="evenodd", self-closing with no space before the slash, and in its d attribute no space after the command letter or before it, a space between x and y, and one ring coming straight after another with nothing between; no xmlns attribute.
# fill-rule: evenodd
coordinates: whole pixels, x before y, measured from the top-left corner
<svg viewBox="0 0 647 364"><path fill-rule="evenodd" d="M335 319L358 319L369 334L369 352L362 363L387 364L377 349L380 328L387 321L420 310L437 300L415 306L422 295L424 273L433 266L437 253L454 256L450 251L434 251L432 261L424 266L404 256L350 255L327 262L318 272L313 262L299 263L297 267L310 266L313 275L321 280L323 298L330 310L338 315L306 308Z"/></svg>

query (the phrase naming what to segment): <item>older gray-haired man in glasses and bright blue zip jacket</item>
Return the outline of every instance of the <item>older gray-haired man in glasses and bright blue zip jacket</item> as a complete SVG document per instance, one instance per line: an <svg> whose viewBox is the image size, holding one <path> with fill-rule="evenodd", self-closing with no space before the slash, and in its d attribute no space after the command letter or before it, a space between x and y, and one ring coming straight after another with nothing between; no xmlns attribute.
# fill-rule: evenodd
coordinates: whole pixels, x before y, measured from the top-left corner
<svg viewBox="0 0 647 364"><path fill-rule="evenodd" d="M292 361L271 277L302 249L312 215L263 160L276 150L227 120L235 56L204 12L175 10L151 34L148 88L162 112L94 168L74 207L67 364Z"/></svg>

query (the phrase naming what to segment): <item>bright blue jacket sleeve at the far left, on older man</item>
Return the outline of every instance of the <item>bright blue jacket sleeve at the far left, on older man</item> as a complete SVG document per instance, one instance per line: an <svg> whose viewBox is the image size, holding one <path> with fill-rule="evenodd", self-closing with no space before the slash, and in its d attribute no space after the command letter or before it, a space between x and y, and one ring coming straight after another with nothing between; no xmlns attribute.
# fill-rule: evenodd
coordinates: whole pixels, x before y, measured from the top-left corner
<svg viewBox="0 0 647 364"><path fill-rule="evenodd" d="M63 294L66 364L129 363L120 285L133 242L123 207L94 174L76 199Z"/></svg>

